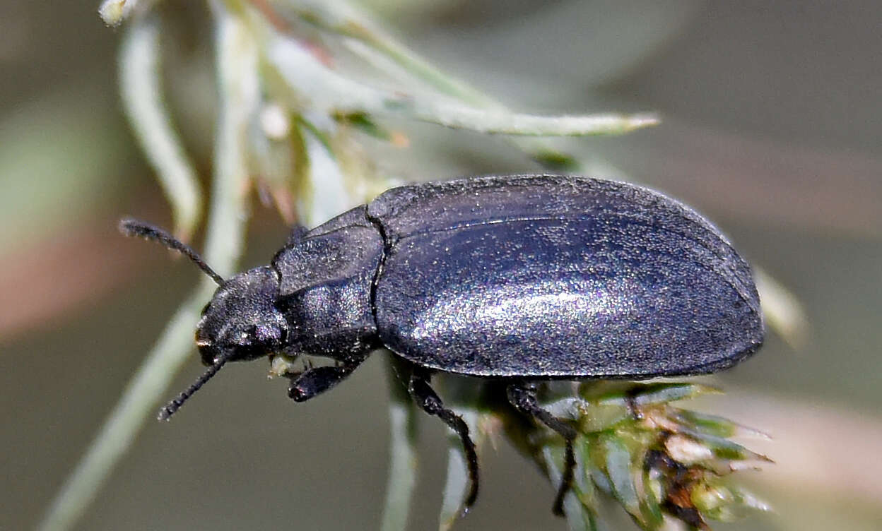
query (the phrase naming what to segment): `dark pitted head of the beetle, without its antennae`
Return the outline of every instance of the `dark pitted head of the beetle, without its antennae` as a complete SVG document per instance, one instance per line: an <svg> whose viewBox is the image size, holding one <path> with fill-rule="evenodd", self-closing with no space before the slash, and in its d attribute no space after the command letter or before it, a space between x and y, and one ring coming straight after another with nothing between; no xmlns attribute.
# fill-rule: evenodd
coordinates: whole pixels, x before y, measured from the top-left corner
<svg viewBox="0 0 882 531"><path fill-rule="evenodd" d="M288 322L275 307L279 278L270 267L250 269L214 292L196 328L202 363L248 361L280 349Z"/></svg>

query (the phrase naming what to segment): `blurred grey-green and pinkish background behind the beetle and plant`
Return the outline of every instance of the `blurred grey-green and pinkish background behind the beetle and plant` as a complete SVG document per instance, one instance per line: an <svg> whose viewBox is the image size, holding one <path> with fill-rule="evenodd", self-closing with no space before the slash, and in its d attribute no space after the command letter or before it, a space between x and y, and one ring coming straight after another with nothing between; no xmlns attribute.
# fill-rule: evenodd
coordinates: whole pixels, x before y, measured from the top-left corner
<svg viewBox="0 0 882 531"><path fill-rule="evenodd" d="M510 107L662 114L629 136L572 139L599 176L690 203L793 291L804 343L770 334L706 379L701 404L774 436L739 478L776 508L721 529L882 525L882 6L852 2L366 3L408 46ZM124 240L125 214L170 225L119 110L114 30L88 2L0 2L0 528L33 527L197 272ZM203 11L169 2L169 100L209 173ZM201 59L200 59L201 58ZM191 68L203 64L203 69ZM183 79L183 81L182 81ZM206 91L201 89L205 88ZM411 179L536 171L498 138L430 125L379 164ZM243 268L287 229L255 206ZM195 323L194 323L195 324ZM171 424L149 423L78 529L360 529L380 520L382 356L300 406L265 365L223 372ZM194 354L169 397L201 372ZM445 429L421 418L411 527L437 527ZM457 529L565 528L553 489L510 446L482 454ZM610 513L617 515L620 510ZM615 517L613 522L616 522ZM631 528L621 525L609 528Z"/></svg>

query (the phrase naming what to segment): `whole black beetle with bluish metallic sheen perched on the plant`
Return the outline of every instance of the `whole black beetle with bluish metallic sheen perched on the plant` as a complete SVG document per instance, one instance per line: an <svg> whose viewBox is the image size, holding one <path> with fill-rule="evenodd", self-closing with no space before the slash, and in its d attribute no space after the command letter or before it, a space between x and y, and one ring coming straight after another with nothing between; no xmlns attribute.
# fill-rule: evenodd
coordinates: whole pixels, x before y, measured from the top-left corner
<svg viewBox="0 0 882 531"><path fill-rule="evenodd" d="M466 509L478 493L475 444L433 373L500 380L514 409L564 438L562 514L577 431L537 402L540 382L716 372L763 342L751 269L729 240L694 210L624 182L511 175L392 188L295 230L269 265L228 279L168 232L120 226L219 284L196 331L208 369L161 419L229 361L330 358L288 372L288 395L304 402L385 348L412 367L419 407L459 435Z"/></svg>

